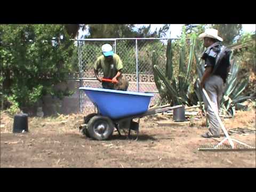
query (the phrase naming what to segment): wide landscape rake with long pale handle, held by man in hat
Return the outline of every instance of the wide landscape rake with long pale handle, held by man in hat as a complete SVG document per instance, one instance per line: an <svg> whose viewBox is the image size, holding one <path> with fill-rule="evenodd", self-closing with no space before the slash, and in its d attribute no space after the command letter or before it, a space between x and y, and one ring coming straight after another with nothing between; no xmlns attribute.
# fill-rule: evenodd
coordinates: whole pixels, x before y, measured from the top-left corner
<svg viewBox="0 0 256 192"><path fill-rule="evenodd" d="M202 146L199 146L198 150L203 150L203 151L212 151L212 150L215 150L215 151L237 151L237 150L255 150L255 147L252 147L250 145L247 145L246 143L244 142L241 142L241 141L238 141L234 138L230 138L229 137L229 134L225 128L225 126L223 125L219 115L218 115L218 112L214 109L214 106L213 106L213 103L212 101L210 100L209 98L209 95L207 94L207 92L205 91L205 89L203 88L203 93L207 99L207 101L209 102L209 105L210 107L212 108L215 116L217 117L217 120L221 126L221 129L222 131L224 132L226 138L223 139L221 142L218 143L218 145L202 145ZM225 145L225 141L228 141L229 142L229 145ZM238 145L234 145L234 142L238 143Z"/></svg>

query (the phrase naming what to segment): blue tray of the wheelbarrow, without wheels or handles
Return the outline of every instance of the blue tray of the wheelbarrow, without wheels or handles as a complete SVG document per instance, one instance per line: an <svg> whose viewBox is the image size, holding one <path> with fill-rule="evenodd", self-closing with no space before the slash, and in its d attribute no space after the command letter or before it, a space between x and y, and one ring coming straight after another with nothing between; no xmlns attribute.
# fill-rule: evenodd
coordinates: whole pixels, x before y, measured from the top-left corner
<svg viewBox="0 0 256 192"><path fill-rule="evenodd" d="M120 119L145 113L154 96L151 93L117 91L92 87L79 87L97 106L102 116Z"/></svg>

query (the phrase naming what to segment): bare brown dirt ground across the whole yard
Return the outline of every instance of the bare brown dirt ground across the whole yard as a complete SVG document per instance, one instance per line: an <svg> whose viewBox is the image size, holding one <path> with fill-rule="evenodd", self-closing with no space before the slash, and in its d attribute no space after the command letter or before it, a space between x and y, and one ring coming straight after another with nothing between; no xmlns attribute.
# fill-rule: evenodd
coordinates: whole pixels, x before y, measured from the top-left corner
<svg viewBox="0 0 256 192"><path fill-rule="evenodd" d="M147 116L140 121L139 140L119 137L106 141L83 136L82 115L29 117L28 133L12 133L13 117L1 113L1 167L255 167L255 151L198 151L224 137L204 139L205 117L187 124L157 124L170 115ZM255 110L237 111L223 119L227 130L246 128L249 133L231 137L255 146Z"/></svg>

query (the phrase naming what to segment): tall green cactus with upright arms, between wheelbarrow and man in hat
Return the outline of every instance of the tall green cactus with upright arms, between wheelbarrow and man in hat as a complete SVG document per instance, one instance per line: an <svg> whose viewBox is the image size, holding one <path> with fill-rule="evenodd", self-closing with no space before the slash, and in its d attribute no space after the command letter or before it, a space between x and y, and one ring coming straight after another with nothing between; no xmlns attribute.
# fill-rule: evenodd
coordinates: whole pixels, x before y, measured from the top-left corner
<svg viewBox="0 0 256 192"><path fill-rule="evenodd" d="M190 51L189 51L189 59L186 66L186 54L185 54L185 46L186 46L186 35L183 33L181 37L181 49L180 49L180 58L179 58L179 73L177 76L173 73L173 65L172 65L172 40L169 39L167 43L166 50L166 70L165 75L161 71L161 69L157 66L157 55L156 52L153 52L153 71L154 71L154 79L161 95L161 98L166 98L173 105L190 105L190 93L191 93L191 83L190 80L190 72L191 65L193 62L193 55L195 50L195 40L196 37L193 36L190 42ZM187 69L186 69L187 68Z"/></svg>

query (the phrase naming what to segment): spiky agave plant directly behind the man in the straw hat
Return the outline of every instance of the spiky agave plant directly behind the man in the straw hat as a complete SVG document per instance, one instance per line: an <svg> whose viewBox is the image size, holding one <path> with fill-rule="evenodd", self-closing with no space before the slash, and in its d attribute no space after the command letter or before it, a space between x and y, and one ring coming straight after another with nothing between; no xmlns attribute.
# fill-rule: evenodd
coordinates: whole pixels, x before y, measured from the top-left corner
<svg viewBox="0 0 256 192"><path fill-rule="evenodd" d="M196 58L196 69L199 79L202 79L204 74L204 62L199 60L197 55ZM224 87L223 97L220 104L220 111L225 115L235 115L235 108L243 106L243 103L247 99L251 99L252 96L246 96L248 93L242 94L245 87L249 83L249 79L238 79L239 63L233 60L230 68L230 73L227 78L227 82ZM199 101L202 101L202 89L199 87L199 80L195 85L195 92Z"/></svg>

